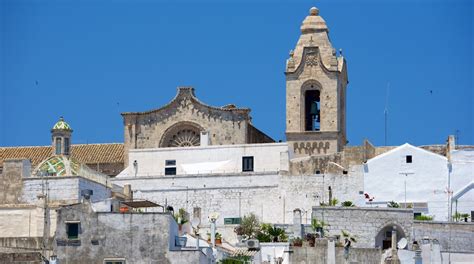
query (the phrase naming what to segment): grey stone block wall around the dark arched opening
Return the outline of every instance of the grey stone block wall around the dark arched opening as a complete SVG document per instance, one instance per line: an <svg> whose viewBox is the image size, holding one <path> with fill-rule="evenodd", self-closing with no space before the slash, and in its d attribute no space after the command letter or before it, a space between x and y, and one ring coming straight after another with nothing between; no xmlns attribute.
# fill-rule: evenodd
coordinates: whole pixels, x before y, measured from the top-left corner
<svg viewBox="0 0 474 264"><path fill-rule="evenodd" d="M313 207L312 219L329 224L331 235L346 230L357 237L355 247L373 248L376 236L385 228L396 226L411 241L413 211L398 208ZM401 230L400 230L401 229Z"/></svg>

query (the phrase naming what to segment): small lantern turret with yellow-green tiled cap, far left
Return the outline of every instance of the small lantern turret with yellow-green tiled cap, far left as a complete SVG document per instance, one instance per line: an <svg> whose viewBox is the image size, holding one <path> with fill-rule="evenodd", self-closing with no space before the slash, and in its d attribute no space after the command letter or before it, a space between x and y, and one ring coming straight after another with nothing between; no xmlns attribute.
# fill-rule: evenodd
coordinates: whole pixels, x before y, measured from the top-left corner
<svg viewBox="0 0 474 264"><path fill-rule="evenodd" d="M61 116L51 129L53 155L69 156L71 152L72 129Z"/></svg>

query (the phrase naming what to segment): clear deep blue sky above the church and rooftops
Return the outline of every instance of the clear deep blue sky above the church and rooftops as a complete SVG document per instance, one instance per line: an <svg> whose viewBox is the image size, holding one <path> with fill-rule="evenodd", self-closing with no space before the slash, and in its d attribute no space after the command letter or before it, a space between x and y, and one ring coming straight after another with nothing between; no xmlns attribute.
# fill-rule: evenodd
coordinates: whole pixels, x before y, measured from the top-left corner
<svg viewBox="0 0 474 264"><path fill-rule="evenodd" d="M0 145L123 142L120 112L157 108L177 86L252 109L285 140L285 60L311 6L348 62L350 145L474 144L471 1L0 0Z"/></svg>

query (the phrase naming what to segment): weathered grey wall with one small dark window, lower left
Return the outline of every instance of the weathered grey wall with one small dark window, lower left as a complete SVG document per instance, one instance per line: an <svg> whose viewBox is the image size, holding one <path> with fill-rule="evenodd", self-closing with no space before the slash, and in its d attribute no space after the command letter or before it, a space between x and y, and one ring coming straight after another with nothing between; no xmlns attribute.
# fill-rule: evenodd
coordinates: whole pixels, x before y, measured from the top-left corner
<svg viewBox="0 0 474 264"><path fill-rule="evenodd" d="M67 238L68 221L80 222L77 240ZM95 213L86 201L59 210L57 225L53 247L61 263L97 263L105 258L124 258L127 263L201 261L199 251L171 253L179 249L178 227L167 213Z"/></svg>

